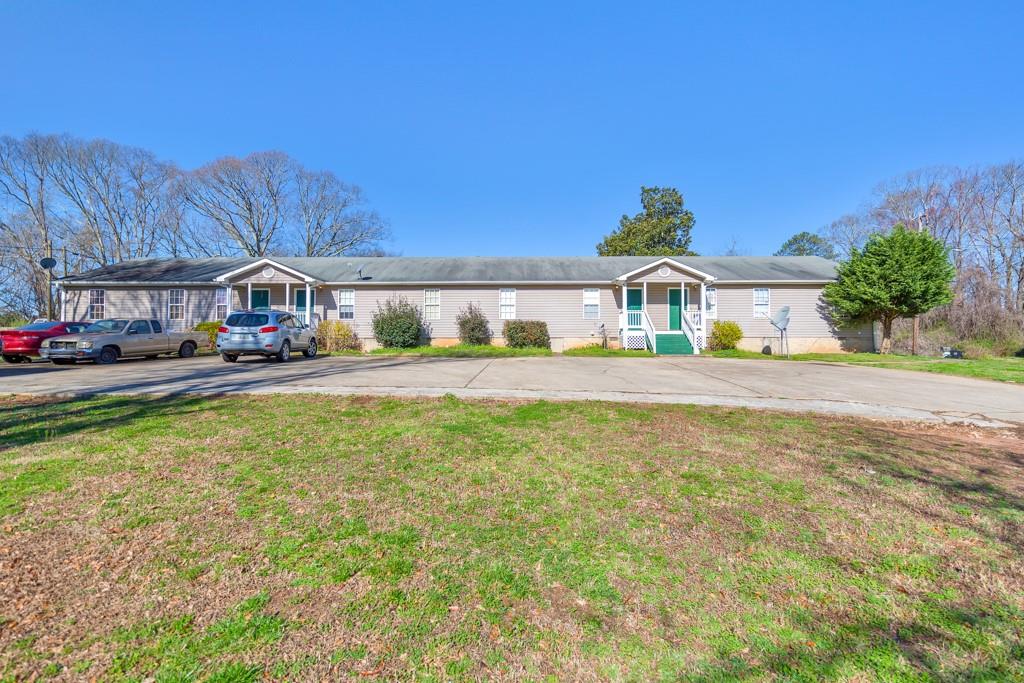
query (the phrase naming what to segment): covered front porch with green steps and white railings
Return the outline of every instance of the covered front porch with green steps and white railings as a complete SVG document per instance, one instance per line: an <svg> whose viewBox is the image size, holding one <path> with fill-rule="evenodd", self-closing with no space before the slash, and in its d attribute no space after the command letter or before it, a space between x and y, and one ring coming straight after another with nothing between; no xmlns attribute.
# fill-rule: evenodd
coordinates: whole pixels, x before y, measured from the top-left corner
<svg viewBox="0 0 1024 683"><path fill-rule="evenodd" d="M616 279L623 348L700 353L707 346L707 287L712 282L711 275L669 258Z"/></svg>

